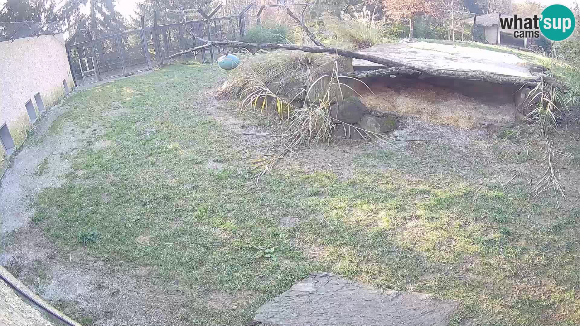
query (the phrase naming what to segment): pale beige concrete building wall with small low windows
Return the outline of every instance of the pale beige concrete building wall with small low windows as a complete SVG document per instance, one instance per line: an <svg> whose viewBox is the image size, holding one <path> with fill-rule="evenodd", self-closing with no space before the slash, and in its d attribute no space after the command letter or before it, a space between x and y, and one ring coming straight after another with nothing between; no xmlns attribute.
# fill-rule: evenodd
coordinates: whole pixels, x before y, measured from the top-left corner
<svg viewBox="0 0 580 326"><path fill-rule="evenodd" d="M25 104L40 93L45 108L54 106L68 89L74 87L68 66L63 34L42 35L0 42L0 127L6 123L14 144L20 147L31 128ZM0 175L9 157L0 145Z"/></svg>

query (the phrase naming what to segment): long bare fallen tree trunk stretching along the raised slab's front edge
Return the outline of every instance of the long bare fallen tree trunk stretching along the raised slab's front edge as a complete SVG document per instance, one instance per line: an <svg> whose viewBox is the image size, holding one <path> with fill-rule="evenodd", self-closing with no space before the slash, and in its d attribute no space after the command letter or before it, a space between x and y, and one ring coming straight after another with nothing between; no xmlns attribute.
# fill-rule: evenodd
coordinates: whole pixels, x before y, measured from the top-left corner
<svg viewBox="0 0 580 326"><path fill-rule="evenodd" d="M206 41L206 40L205 40ZM481 70L445 70L445 69L430 69L430 68L420 68L413 66L406 66L403 63L393 61L390 59L385 59L381 57L364 55L362 53L351 52L342 49L328 48L327 46L299 46L292 44L271 44L271 43L247 43L239 41L213 41L207 42L204 45L191 48L182 52L177 52L174 55L169 56L169 58L183 55L185 53L194 52L196 50L209 48L211 46L227 45L231 48L247 48L247 49L280 49L280 50L298 50L310 53L331 53L338 54L343 57L351 57L354 59L362 59L371 61L374 63L382 64L390 68L378 69L372 71L351 71L347 73L340 73L339 75L355 77L355 78L366 78L380 75L419 75L420 78L426 77L444 77L444 78L454 78L472 81L485 81L491 82L492 84L507 84L514 86L524 86L534 88L538 85L538 82L545 81L547 84L554 86L555 88L565 91L565 86L559 84L556 79L549 77L548 75L535 75L532 77L512 77L501 74L487 73Z"/></svg>

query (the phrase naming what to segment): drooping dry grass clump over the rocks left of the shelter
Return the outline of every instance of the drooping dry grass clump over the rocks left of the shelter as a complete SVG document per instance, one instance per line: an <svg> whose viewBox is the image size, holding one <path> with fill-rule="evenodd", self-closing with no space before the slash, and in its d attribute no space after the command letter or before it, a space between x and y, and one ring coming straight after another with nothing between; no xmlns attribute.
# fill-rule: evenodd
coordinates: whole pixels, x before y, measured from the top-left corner
<svg viewBox="0 0 580 326"><path fill-rule="evenodd" d="M287 54L287 56L284 56ZM343 99L346 89L354 90L351 86L345 84L345 79L355 79L352 77L339 77L339 56L332 56L332 61L318 61L326 59L324 57L303 56L303 53L292 53L284 51L283 53L264 53L263 56L286 57L285 65L278 63L280 70L273 71L272 68L264 69L264 66L270 66L265 61L256 61L248 63L247 70L241 70L234 78L230 79L231 84L223 90L223 95L228 97L239 97L242 100L240 110L243 111L264 111L271 110L268 103L276 103L276 112L280 117L278 124L280 134L274 139L267 142L259 143L254 146L241 148L238 152L251 153L258 148L269 148L271 153L262 155L249 162L250 169L258 171L256 173L256 182L265 173L271 171L274 165L283 158L288 152L295 153L302 148L318 146L318 144L331 144L333 131L337 125L343 124L336 118L331 117L331 104L338 103ZM288 59L293 56L293 59ZM252 58L255 59L255 58ZM267 61L266 61L267 62ZM322 63L321 66L314 66L316 63ZM332 63L332 70L328 71L327 63ZM258 69L254 70L252 67ZM291 70L291 67L298 71ZM239 68L239 67L238 67ZM318 70L318 71L317 71ZM280 82L274 78L286 78L288 75L303 77L302 82L297 82L295 87L291 88L288 93L280 94ZM358 81L358 79L357 79ZM296 82L293 79L292 82ZM368 86L359 81L364 87ZM278 87L277 90L272 89ZM289 86L286 85L285 89ZM354 91L356 92L356 91ZM369 132L358 126L349 125L357 130L361 135L367 135L370 138L393 144L394 139L389 136Z"/></svg>

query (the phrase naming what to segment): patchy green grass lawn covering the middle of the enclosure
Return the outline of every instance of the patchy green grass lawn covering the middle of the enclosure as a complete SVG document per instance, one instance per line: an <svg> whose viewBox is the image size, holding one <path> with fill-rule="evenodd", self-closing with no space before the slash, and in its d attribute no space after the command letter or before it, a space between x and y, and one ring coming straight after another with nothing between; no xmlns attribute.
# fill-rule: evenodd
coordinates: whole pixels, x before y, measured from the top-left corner
<svg viewBox="0 0 580 326"><path fill-rule="evenodd" d="M224 74L175 64L67 99L50 132L100 124L106 146L71 158L34 223L61 248L88 241L91 255L168 282L244 294L235 307L187 306L192 325L245 324L314 271L458 300L452 325L580 323L577 203L559 211L549 198L530 202L527 182L452 173L465 158L445 145L422 147L429 164L388 149L355 155L352 178L282 162L256 184L244 157L224 154L239 133L209 117L226 106L235 118L235 103L210 97ZM253 246L277 247L277 259L254 258Z"/></svg>

